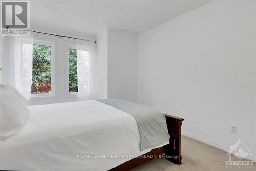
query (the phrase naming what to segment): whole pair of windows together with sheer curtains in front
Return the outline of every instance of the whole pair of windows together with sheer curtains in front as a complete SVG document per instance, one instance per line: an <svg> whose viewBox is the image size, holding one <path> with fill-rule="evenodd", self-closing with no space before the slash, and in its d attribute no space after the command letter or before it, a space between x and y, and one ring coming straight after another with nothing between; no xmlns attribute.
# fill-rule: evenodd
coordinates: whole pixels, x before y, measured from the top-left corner
<svg viewBox="0 0 256 171"><path fill-rule="evenodd" d="M17 70L21 72L17 79L29 100L96 98L94 42L33 34L21 37L20 43L22 60Z"/></svg>

